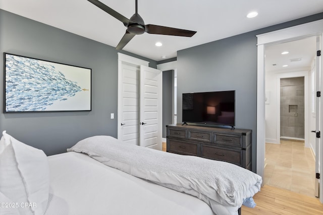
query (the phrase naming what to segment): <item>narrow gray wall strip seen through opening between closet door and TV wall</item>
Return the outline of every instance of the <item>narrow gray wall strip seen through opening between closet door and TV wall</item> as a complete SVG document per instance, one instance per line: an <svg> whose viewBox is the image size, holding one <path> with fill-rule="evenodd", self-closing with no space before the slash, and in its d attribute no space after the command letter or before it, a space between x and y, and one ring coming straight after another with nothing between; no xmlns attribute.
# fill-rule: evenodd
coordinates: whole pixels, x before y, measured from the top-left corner
<svg viewBox="0 0 323 215"><path fill-rule="evenodd" d="M173 123L174 70L163 71L163 138L166 138L166 125Z"/></svg>

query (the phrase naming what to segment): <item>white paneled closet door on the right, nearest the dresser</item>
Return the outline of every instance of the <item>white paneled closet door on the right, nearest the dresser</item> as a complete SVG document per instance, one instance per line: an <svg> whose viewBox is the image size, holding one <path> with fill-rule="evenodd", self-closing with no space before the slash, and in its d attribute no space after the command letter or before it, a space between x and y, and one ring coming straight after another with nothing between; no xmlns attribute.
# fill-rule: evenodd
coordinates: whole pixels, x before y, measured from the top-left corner
<svg viewBox="0 0 323 215"><path fill-rule="evenodd" d="M161 150L163 73L140 66L140 146Z"/></svg>

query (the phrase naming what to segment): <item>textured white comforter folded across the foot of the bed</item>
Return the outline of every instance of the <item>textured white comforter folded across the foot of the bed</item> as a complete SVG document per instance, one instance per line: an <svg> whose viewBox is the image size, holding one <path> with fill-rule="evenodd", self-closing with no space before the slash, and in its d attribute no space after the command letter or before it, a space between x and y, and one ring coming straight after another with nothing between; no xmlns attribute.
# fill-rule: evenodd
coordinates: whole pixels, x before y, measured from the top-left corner
<svg viewBox="0 0 323 215"><path fill-rule="evenodd" d="M107 166L196 196L214 213L219 203L241 207L261 185L260 176L230 163L142 148L111 136L83 139L68 151L86 153Z"/></svg>

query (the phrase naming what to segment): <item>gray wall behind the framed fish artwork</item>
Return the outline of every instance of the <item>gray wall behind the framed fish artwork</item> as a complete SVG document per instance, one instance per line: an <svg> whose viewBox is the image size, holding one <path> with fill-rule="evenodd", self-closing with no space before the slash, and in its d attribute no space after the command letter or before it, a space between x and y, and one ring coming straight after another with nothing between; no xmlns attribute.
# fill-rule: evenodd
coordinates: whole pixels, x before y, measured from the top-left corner
<svg viewBox="0 0 323 215"><path fill-rule="evenodd" d="M3 52L91 68L92 111L4 114L1 110L1 131L7 130L47 155L66 152L88 136L117 137L118 54L114 47L0 10L0 53ZM150 67L156 68L156 61L120 52L147 60ZM3 57L0 68L3 77ZM3 79L1 85L4 86ZM0 95L3 91L1 87ZM110 113L115 113L116 118L110 119Z"/></svg>

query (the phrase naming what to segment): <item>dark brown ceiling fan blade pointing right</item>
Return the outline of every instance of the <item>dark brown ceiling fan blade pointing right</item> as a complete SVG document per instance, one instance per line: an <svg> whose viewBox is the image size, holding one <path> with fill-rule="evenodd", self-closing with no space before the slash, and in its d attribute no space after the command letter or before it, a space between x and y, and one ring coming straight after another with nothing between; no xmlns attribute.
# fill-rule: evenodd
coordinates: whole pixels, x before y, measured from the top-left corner
<svg viewBox="0 0 323 215"><path fill-rule="evenodd" d="M145 25L145 31L149 34L163 34L163 35L173 35L173 36L182 36L182 37L191 37L196 31L189 31L178 28L170 28L159 25Z"/></svg>

